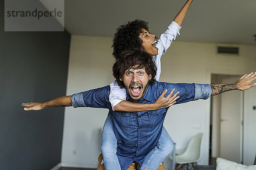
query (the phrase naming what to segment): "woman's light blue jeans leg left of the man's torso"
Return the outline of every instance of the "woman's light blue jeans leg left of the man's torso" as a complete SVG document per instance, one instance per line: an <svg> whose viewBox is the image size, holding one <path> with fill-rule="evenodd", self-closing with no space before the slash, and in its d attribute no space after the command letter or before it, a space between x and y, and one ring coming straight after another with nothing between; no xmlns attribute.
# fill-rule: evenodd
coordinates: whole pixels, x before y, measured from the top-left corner
<svg viewBox="0 0 256 170"><path fill-rule="evenodd" d="M102 130L102 155L105 170L121 170L118 158L116 156L117 140L113 130L113 123L110 113L105 121Z"/></svg>

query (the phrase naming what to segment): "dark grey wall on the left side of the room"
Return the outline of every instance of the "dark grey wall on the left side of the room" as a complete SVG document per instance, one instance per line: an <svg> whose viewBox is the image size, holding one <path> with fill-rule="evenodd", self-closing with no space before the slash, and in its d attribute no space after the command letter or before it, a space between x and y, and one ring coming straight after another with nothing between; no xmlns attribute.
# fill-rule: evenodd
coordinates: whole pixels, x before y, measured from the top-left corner
<svg viewBox="0 0 256 170"><path fill-rule="evenodd" d="M0 170L49 170L61 161L64 108L22 102L64 96L70 34L5 32L0 0Z"/></svg>

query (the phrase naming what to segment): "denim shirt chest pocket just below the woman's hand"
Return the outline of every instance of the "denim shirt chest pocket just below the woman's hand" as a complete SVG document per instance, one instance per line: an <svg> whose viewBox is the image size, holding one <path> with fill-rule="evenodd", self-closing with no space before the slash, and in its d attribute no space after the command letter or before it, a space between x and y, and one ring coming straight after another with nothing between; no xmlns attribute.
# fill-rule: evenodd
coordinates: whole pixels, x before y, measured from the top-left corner
<svg viewBox="0 0 256 170"><path fill-rule="evenodd" d="M166 109L158 109L156 111L149 111L148 112L148 119L149 119L149 127L152 129L158 127L159 125L163 124L163 120L166 116Z"/></svg>

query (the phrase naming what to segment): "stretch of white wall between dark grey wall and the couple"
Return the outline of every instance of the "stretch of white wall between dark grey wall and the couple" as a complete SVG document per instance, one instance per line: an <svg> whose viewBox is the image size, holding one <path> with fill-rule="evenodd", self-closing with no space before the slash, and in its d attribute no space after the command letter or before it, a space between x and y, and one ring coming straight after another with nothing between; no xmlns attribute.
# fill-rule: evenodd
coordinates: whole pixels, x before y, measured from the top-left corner
<svg viewBox="0 0 256 170"><path fill-rule="evenodd" d="M113 82L112 38L71 37L67 95ZM96 167L101 153L100 128L108 110L65 108L61 161L65 166Z"/></svg>

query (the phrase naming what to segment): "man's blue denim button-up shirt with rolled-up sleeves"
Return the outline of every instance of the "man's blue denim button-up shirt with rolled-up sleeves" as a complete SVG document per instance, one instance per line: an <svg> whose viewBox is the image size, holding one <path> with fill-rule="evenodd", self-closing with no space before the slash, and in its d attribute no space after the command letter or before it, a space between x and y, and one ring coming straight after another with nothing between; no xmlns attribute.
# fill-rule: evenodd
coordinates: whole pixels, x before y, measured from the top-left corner
<svg viewBox="0 0 256 170"><path fill-rule="evenodd" d="M208 84L155 82L148 88L139 103L154 103L165 89L180 98L175 104L198 99L208 99L212 89ZM117 139L117 156L122 170L126 170L133 161L142 165L144 156L152 150L160 138L163 121L169 108L156 111L119 112L113 111L109 102L110 86L97 88L71 96L72 105L77 107L108 108L111 113L114 132ZM165 97L168 95L167 93ZM127 94L127 100L129 95Z"/></svg>

